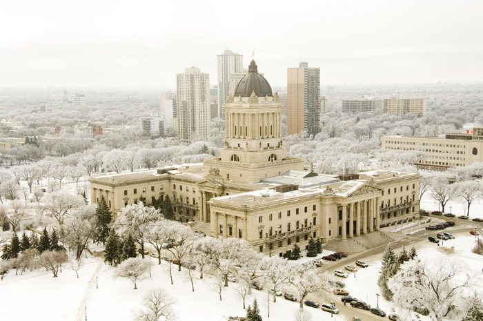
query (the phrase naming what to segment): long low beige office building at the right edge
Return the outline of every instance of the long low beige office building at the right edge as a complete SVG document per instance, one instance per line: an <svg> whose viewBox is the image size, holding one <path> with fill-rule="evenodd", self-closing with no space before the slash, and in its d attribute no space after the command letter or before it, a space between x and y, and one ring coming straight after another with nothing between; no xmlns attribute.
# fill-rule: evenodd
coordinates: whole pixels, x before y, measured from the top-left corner
<svg viewBox="0 0 483 321"><path fill-rule="evenodd" d="M381 148L416 150L423 155L418 168L446 171L451 167L483 162L483 127L473 127L466 133L449 133L445 137L383 136Z"/></svg>

